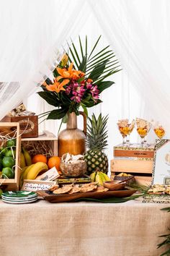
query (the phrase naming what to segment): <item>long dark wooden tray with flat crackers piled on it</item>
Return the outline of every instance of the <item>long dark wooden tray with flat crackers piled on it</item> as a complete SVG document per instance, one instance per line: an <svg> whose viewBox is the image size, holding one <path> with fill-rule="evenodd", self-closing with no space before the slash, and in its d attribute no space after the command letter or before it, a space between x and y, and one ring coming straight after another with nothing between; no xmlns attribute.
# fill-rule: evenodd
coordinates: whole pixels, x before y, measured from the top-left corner
<svg viewBox="0 0 170 256"><path fill-rule="evenodd" d="M98 186L97 182L91 182L88 184L67 184L62 187L54 185L48 191L38 191L38 194L49 202L74 202L77 199L83 200L83 198L130 197L135 192L135 189L111 191L106 187Z"/></svg>

